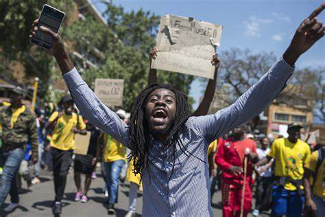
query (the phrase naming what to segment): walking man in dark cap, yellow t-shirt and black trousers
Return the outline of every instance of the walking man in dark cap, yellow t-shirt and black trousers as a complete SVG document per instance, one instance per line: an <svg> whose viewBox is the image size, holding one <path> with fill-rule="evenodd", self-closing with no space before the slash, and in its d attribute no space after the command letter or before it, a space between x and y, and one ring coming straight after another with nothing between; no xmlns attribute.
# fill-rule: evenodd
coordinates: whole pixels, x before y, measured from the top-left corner
<svg viewBox="0 0 325 217"><path fill-rule="evenodd" d="M47 130L54 126L50 141L53 157L54 190L56 193L53 203L53 214L62 212L61 200L63 198L67 174L72 163L73 150L75 149L75 134L86 135L86 124L80 115L73 112L71 95L66 95L60 101L63 111L55 111L47 123Z"/></svg>

